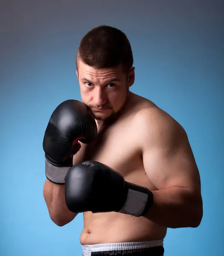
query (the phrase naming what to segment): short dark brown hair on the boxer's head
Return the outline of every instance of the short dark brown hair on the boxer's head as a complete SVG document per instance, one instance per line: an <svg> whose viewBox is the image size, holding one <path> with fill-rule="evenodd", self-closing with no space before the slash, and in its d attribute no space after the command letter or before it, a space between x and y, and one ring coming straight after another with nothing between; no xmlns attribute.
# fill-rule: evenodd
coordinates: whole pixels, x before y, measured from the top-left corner
<svg viewBox="0 0 224 256"><path fill-rule="evenodd" d="M79 59L96 69L122 64L127 72L133 65L132 49L125 33L105 25L91 29L82 38L76 56L77 68Z"/></svg>

